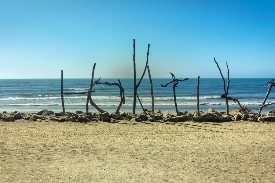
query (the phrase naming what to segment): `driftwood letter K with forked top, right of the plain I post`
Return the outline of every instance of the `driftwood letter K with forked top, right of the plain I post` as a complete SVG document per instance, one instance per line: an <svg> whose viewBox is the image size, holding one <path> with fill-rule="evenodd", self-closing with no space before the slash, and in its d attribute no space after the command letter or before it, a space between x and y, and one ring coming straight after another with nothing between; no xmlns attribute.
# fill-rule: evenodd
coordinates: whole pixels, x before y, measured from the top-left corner
<svg viewBox="0 0 275 183"><path fill-rule="evenodd" d="M227 66L227 88L226 88L226 85L225 85L225 79L222 75L222 71L219 67L219 64L218 62L216 61L215 57L214 57L214 61L215 63L217 64L217 67L220 71L220 74L222 76L222 80L223 80L223 89L224 89L224 93L222 93L221 95L219 95L219 97L223 98L223 99L226 99L226 115L229 115L229 105L228 105L228 100L232 100L233 102L238 102L240 108L242 109L242 111L244 112L244 108L240 105L240 102L238 99L233 99L232 97L228 97L228 90L229 90L229 68L228 68L228 65L227 65L227 62L226 62L226 66Z"/></svg>

